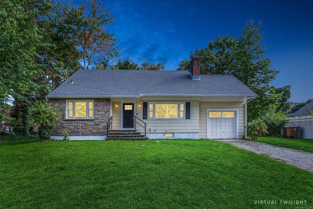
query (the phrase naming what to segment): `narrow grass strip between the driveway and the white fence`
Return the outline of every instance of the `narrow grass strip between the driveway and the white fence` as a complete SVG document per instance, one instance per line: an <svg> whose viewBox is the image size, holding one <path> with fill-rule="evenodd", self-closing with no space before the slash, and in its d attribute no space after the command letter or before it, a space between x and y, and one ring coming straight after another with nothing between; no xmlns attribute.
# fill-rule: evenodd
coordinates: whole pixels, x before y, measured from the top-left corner
<svg viewBox="0 0 313 209"><path fill-rule="evenodd" d="M302 150L313 153L313 140L304 138L259 137L255 142L263 142L278 147Z"/></svg>

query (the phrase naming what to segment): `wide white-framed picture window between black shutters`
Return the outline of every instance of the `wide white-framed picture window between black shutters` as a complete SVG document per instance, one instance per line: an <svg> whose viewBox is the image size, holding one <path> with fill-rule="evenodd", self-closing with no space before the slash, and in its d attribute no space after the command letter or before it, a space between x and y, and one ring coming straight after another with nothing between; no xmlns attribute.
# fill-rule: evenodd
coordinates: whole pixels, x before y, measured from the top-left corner
<svg viewBox="0 0 313 209"><path fill-rule="evenodd" d="M185 119L186 102L149 102L148 119Z"/></svg>

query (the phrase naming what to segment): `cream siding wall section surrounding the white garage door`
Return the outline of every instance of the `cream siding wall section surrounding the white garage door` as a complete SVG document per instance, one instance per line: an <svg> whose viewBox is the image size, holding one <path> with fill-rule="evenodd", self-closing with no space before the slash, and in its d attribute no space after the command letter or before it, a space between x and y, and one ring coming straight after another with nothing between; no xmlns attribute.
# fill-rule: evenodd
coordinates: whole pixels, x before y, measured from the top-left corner
<svg viewBox="0 0 313 209"><path fill-rule="evenodd" d="M239 138L245 134L245 102L200 102L199 103L199 138L207 138L207 109L239 109Z"/></svg>

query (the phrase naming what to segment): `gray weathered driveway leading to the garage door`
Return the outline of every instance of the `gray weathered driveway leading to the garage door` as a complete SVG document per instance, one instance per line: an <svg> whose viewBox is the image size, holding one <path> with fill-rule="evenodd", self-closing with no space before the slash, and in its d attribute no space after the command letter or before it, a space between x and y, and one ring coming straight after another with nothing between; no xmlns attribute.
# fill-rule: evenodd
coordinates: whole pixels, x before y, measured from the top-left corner
<svg viewBox="0 0 313 209"><path fill-rule="evenodd" d="M313 153L276 147L261 142L253 142L242 139L211 139L214 141L232 144L241 149L270 157L281 162L297 166L304 170L313 172Z"/></svg>

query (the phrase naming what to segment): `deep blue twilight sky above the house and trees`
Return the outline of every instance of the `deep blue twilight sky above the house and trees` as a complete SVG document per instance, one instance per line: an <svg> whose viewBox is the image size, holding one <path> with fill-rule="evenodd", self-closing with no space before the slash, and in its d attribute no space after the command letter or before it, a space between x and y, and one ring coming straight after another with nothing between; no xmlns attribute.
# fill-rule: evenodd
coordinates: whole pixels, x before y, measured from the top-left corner
<svg viewBox="0 0 313 209"><path fill-rule="evenodd" d="M79 1L74 1L77 4ZM291 101L313 98L312 1L108 0L115 15L109 28L120 40L121 59L161 61L176 70L190 51L217 35L236 38L251 18L262 20L267 52L280 74L277 87L291 85ZM255 23L256 23L255 22Z"/></svg>

